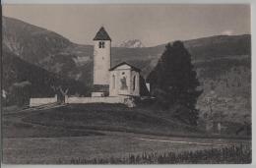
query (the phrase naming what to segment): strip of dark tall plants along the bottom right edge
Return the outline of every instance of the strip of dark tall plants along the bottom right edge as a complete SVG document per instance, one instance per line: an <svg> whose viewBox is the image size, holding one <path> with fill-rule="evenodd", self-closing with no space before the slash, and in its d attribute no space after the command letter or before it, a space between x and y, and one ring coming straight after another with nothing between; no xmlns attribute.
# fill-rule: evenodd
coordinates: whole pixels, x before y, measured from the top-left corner
<svg viewBox="0 0 256 168"><path fill-rule="evenodd" d="M60 163L61 160L60 160ZM251 163L251 149L248 146L229 146L197 151L152 152L124 158L110 157L107 159L71 159L71 164L248 164Z"/></svg>

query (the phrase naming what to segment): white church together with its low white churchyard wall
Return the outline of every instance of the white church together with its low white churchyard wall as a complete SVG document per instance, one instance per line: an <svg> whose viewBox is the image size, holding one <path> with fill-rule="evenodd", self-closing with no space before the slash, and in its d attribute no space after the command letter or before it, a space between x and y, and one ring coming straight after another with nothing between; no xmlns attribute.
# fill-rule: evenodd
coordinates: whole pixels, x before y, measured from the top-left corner
<svg viewBox="0 0 256 168"><path fill-rule="evenodd" d="M86 103L122 103L134 107L134 97L140 97L144 87L141 80L141 70L122 62L111 65L111 38L101 27L94 38L94 88L92 96L68 96L59 102L54 97L31 98L30 106L41 106L54 103L86 104Z"/></svg>

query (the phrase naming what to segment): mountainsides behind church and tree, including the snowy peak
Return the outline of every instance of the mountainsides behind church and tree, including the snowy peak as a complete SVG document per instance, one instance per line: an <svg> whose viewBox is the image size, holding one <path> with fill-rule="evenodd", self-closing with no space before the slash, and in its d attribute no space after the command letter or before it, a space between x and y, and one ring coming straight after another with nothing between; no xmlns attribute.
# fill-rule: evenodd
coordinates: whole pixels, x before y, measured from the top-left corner
<svg viewBox="0 0 256 168"><path fill-rule="evenodd" d="M13 72L22 76L14 71L15 67L30 67L30 71L45 71L45 77L54 74L72 83L84 84L86 88L92 86L93 45L77 44L56 32L12 18L3 17L2 26L3 59L19 60L5 62L6 74ZM192 55L204 89L198 101L202 115L209 111L204 101L213 90L220 99L228 102L224 107L217 103L215 111L223 110L232 119L250 115L251 35L216 35L183 42ZM144 47L140 40L127 40L119 47L111 48L111 65L126 61L140 68L146 79L157 65L165 45ZM34 83L29 77L10 78L4 76L3 79L3 88L7 92L16 83Z"/></svg>

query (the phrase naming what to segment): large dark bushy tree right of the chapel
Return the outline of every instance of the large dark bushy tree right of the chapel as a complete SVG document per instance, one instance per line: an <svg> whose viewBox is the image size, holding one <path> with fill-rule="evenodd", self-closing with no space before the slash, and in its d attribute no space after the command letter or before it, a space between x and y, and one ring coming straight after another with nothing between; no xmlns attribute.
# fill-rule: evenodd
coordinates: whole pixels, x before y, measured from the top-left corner
<svg viewBox="0 0 256 168"><path fill-rule="evenodd" d="M161 107L172 109L173 115L187 124L197 124L196 102L202 91L197 89L199 81L191 55L181 41L166 45L147 80Z"/></svg>

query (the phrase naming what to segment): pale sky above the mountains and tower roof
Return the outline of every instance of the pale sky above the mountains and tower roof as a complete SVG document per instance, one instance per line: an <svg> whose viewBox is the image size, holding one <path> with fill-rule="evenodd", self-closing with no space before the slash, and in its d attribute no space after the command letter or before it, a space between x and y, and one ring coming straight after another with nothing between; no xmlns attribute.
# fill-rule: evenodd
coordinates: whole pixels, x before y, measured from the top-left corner
<svg viewBox="0 0 256 168"><path fill-rule="evenodd" d="M250 33L249 5L3 5L3 15L53 30L73 42L93 44L103 26L117 45L145 46L212 35Z"/></svg>

